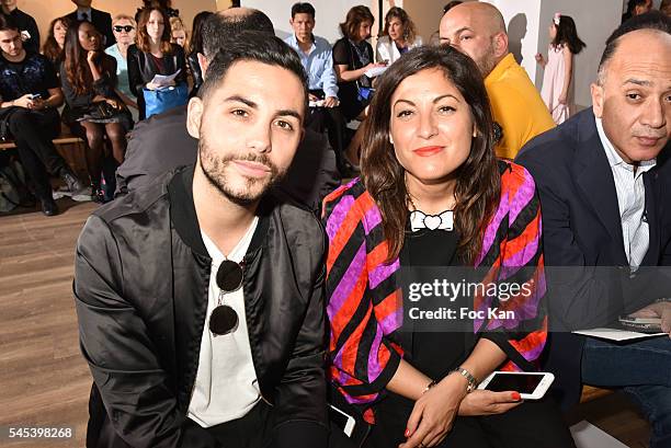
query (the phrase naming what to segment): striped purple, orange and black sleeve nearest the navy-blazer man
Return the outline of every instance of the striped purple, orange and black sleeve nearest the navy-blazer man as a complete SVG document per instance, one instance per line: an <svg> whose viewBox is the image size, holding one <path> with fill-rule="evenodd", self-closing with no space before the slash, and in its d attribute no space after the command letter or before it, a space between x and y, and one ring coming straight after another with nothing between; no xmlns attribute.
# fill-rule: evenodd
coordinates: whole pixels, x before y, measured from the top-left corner
<svg viewBox="0 0 671 448"><path fill-rule="evenodd" d="M505 296L503 289L498 297L478 296L477 309L498 311L486 325L476 322L476 328L480 325L482 336L508 355L503 370L536 369L547 338L541 203L532 175L514 163L501 175L501 202L486 230L477 265L492 266L487 282L520 287Z"/></svg>

